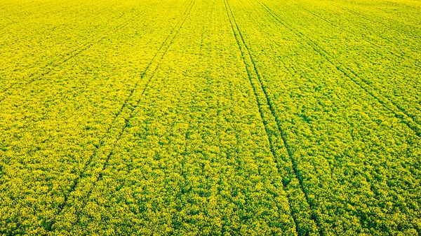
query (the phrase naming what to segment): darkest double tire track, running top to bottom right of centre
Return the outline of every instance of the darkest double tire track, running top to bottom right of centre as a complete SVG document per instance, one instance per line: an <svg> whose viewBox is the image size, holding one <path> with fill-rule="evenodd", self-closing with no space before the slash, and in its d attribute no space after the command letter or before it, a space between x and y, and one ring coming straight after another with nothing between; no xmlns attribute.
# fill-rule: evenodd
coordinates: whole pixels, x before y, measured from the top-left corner
<svg viewBox="0 0 421 236"><path fill-rule="evenodd" d="M255 60L253 59L253 56L250 54L250 50L249 50L249 48L246 44L246 41L244 41L244 39L243 39L243 36L241 34L241 30L239 29L239 26L237 25L236 20L234 18L234 14L232 13L231 6L229 6L229 3L228 3L227 0L225 0L224 3L225 3L225 9L227 11L227 15L228 15L228 18L229 18L229 22L230 22L231 27L232 27L232 32L234 33L237 46L239 47L239 50L241 51L241 56L243 57L243 62L244 62L244 65L246 67L246 71L247 71L247 74L248 74L248 80L250 82L250 85L253 88L253 93L255 95L256 102L258 103L260 118L262 118L262 122L263 122L263 125L265 127L265 132L266 132L267 138L269 140L269 146L270 146L273 158L274 158L274 162L276 163L276 166L278 167L278 171L281 172L279 170L279 163L276 159L277 155L276 155L276 152L275 152L275 144L274 144L274 141L272 140L272 136L276 137L276 134L279 134L279 136L282 139L283 145L286 147L286 151L288 153L289 161L292 164L293 174L294 174L295 178L298 179L298 181L300 183L300 190L302 191L303 195L305 195L305 199L307 201L307 204L310 207L310 211L312 211L312 204L310 204L309 197L307 196L307 192L304 189L304 186L303 186L303 183L302 183L302 176L300 175L300 172L298 172L298 167L297 167L297 164L296 164L296 162L293 158L293 153L292 153L292 151L290 151L290 146L288 145L288 142L286 140L286 133L281 128L280 121L278 120L278 118L276 118L274 106L272 105L272 102L269 99L268 92L267 92L265 86L262 83L262 76L261 76L260 72L258 71L258 67L255 64ZM248 66L248 63L246 61L250 61L251 65ZM251 68L249 68L249 67L251 67ZM255 79L253 80L253 78L255 78ZM257 81L253 82L255 80L257 80ZM257 90L262 90L262 93L264 95L262 97L263 101L260 99L260 96L258 95ZM265 116L265 111L263 111L264 107L262 107L262 106L267 106L267 109L269 109L269 114L268 114L269 117ZM267 122L268 119L272 120L272 121L274 121L274 123L276 123L275 130L271 130L268 127L268 122ZM288 202L290 202L289 197L288 197ZM301 230L300 230L300 227L298 225L299 223L298 223L298 220L297 220L297 216L295 216L295 213L293 212L291 207L290 207L290 213L291 213L291 216L293 217L293 220L294 220L294 223L295 223L295 231L297 232L297 234L301 235L301 233L300 233ZM319 229L320 228L319 223L318 223L318 220L317 220L313 211L312 211L312 220L316 224L316 227ZM308 233L309 232L307 232L307 234ZM321 235L320 230L319 230L319 234Z"/></svg>

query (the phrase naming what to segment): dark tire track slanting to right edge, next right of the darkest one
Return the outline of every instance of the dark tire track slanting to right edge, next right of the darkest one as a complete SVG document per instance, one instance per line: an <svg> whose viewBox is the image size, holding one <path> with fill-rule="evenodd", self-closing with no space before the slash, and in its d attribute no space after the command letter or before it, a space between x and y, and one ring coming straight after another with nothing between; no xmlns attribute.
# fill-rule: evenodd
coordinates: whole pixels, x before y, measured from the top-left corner
<svg viewBox="0 0 421 236"><path fill-rule="evenodd" d="M368 95L373 97L378 103L380 103L385 109L390 111L396 118L399 118L402 123L406 124L410 130L413 130L413 132L417 135L417 137L421 137L421 127L420 124L416 122L416 118L412 115L410 115L408 112L406 112L405 109L403 109L401 106L396 104L396 102L392 102L388 97L385 97L384 95L381 95L379 92L376 92L375 89L370 86L370 83L363 78L360 78L358 74L356 74L354 71L347 69L345 65L343 65L340 62L335 62L332 56L330 56L329 53L326 52L326 50L323 50L323 48L317 46L312 39L309 39L309 37L305 36L305 34L302 34L298 30L294 29L290 25L288 25L286 22L281 20L276 13L274 13L266 4L262 3L262 7L269 13L269 15L272 15L272 17L276 20L276 22L279 22L283 27L286 27L290 32L293 32L295 36L298 36L298 38L305 41L310 47L313 48L316 53L319 53L325 60L327 60L330 64L332 64L338 71L342 72L347 78L349 78L351 81L353 81L356 85L358 85L361 89L363 89Z"/></svg>

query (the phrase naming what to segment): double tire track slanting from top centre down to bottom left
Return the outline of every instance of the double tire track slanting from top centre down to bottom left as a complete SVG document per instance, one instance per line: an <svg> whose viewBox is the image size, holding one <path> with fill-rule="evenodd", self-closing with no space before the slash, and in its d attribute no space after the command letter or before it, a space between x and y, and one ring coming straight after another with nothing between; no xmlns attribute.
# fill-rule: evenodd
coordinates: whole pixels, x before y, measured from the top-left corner
<svg viewBox="0 0 421 236"><path fill-rule="evenodd" d="M107 167L108 163L109 163L109 159L112 157L112 155L114 155L114 150L116 147L116 143L121 139L121 136L123 134L123 132L126 130L126 127L128 127L128 123L131 120L131 118L133 118L134 116L136 116L138 114L137 112L134 112L135 109L137 109L138 107L138 103L140 102L140 99L143 97L143 95L145 94L145 90L147 90L149 83L152 81L152 78L155 74L155 72L157 71L157 69L159 68L159 65L161 64L161 60L163 59L163 57L166 55L168 48L170 48L170 46L172 45L175 37L178 35L178 32L180 32L180 29L182 27L182 25L184 25L185 20L187 20L190 11L192 10L192 7L194 5L194 1L191 1L189 6L187 6L187 9L185 10L185 13L182 15L182 18L179 20L179 22L175 25L175 27L173 27L173 29L171 30L170 34L168 34L168 36L166 37L165 41L163 41L163 43L161 44L159 50L156 52L156 54L154 55L154 57L152 58L151 62L149 62L147 68L145 69L145 71L143 72L143 74L140 76L140 81L142 81L144 78L147 80L147 83L145 84L145 87L142 89L142 92L140 93L140 97L137 99L137 101L134 102L132 107L128 107L129 106L129 100L131 99L131 97L133 97L133 94L135 92L135 90L138 88L138 84L135 85L135 88L133 88L133 90L131 90L130 94L128 95L128 97L126 98L125 102L123 103L123 106L121 106L121 109L119 110L119 112L116 115L116 118L114 118L113 124L116 123L116 121L118 120L119 116L121 115L121 113L123 112L123 110L125 108L127 108L126 110L128 111L128 117L124 118L123 117L123 126L120 127L120 130L118 132L118 135L116 136L115 139L112 139L112 137L114 137L111 134L111 130L113 125L110 125L109 129L107 130L107 134L109 134L110 139L112 140L112 144L106 144L106 141L104 140L105 137L107 136L107 134L105 134L105 137L103 137L101 143L101 146L99 146L94 154L91 156L88 164L86 165L86 167L88 167L89 165L91 165L91 162L93 160L93 158L98 155L98 152L100 151L101 148L107 147L107 146L112 146L112 148L110 148L109 153L107 154L107 157L105 158L105 162L102 164L102 166L100 167L100 171L98 173L93 173L92 175L96 175L94 177L93 183L91 184L91 188L89 188L88 193L86 194L86 196L82 196L82 204L81 207L79 207L80 209L83 209L83 207L86 205L86 201L88 200L89 196L92 193L93 190L93 186L95 186L95 183L97 183L98 181L100 181L102 179L102 172L104 172L105 168ZM150 72L149 72L150 71ZM118 128L118 127L116 127ZM81 174L79 175L78 179L76 179L74 181L74 185L72 186L71 190L69 191L69 193L67 193L66 197L65 197L65 201L62 203L62 205L59 208L58 213L55 215L55 217L53 218L53 220L48 223L48 231L54 230L53 229L53 225L56 222L56 217L62 213L62 211L65 209L65 206L69 200L69 196L76 191L76 188L80 185L82 179L83 179L83 175L86 174L86 168L83 170L83 172L81 172ZM80 214L77 215L76 217L76 223L79 223L80 221Z"/></svg>

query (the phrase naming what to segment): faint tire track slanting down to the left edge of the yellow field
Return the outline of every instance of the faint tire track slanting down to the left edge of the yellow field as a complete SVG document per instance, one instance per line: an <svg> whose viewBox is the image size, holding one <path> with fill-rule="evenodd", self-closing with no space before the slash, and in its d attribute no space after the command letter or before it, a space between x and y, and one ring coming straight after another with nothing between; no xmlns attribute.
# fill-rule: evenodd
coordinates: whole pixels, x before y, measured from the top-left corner
<svg viewBox="0 0 421 236"><path fill-rule="evenodd" d="M124 27L126 27L133 20L137 20L142 15L144 15L149 8L152 8L152 6L149 6L149 7L145 8L141 13L138 13L138 15L135 15L132 18L129 18L128 20L126 20L125 22L122 22L120 25L117 25L116 27L114 27L112 32L117 32L120 29L123 29ZM11 83L11 85L8 85L8 87L6 87L3 91L1 91L0 102L3 102L5 99L8 98L8 96L12 95L12 93L9 92L9 90L11 90L13 87L22 87L22 86L27 86L27 85L30 85L30 84L34 83L36 81L36 77L38 77L38 76L42 77L42 76L46 76L46 75L50 74L52 71L54 71L54 69L56 67L60 67L62 64L65 64L67 61L69 61L72 58L80 55L81 53L85 52L86 50L88 50L92 46L96 45L97 43L100 43L104 39L107 39L107 37L108 36L102 36L102 37L100 37L100 39L85 43L85 44L83 44L83 46L77 47L74 50L72 50L71 52L66 53L64 55L64 57L62 57L59 62L56 62L56 63L54 61L49 62L44 67L42 67L40 70L37 70L37 71L33 72L32 74L29 74L28 76L24 76L24 78L29 79L29 81L15 81L14 83ZM21 82L23 82L23 84ZM18 85L20 85L20 86L18 86Z"/></svg>

